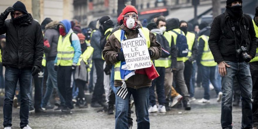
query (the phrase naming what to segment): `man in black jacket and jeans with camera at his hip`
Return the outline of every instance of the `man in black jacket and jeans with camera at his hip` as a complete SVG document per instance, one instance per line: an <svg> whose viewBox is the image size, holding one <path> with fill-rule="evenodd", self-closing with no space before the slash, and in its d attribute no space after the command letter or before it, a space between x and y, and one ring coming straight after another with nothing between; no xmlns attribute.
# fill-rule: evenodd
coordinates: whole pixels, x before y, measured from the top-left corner
<svg viewBox="0 0 258 129"><path fill-rule="evenodd" d="M252 78L249 66L250 59L255 57L257 38L252 18L242 11L242 0L227 0L225 13L217 16L211 26L208 40L209 48L218 71L222 76L222 107L221 126L224 129L232 128L232 91L234 78L237 77L242 96L242 128L253 128L252 121ZM246 47L243 52L237 53L240 47Z"/></svg>

